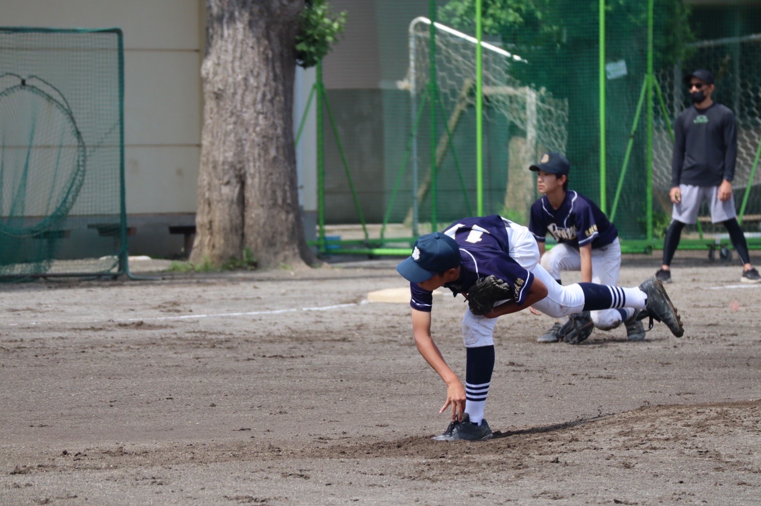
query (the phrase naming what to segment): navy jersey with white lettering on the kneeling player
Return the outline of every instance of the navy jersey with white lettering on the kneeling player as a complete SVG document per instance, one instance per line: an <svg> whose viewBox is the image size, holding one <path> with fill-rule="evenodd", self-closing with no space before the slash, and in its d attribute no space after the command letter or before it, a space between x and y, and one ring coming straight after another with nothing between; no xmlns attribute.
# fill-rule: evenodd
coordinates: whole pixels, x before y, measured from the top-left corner
<svg viewBox="0 0 761 506"><path fill-rule="evenodd" d="M543 195L531 206L528 229L537 242L545 242L549 232L557 242L578 249L587 244L603 248L618 237L618 230L593 201L576 191L567 191L558 209Z"/></svg>

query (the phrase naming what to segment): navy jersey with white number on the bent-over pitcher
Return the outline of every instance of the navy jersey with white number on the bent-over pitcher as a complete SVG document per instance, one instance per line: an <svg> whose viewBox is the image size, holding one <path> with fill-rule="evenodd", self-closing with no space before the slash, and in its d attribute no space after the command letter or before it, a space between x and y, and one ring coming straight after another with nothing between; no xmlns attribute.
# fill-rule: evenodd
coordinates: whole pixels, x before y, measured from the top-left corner
<svg viewBox="0 0 761 506"><path fill-rule="evenodd" d="M454 296L467 293L480 277L494 275L510 286L511 297L522 304L528 295L533 274L521 267L510 255L505 221L497 214L486 217L463 218L444 230L460 246L460 279L447 283ZM430 312L433 293L409 283L412 298L409 305L419 311Z"/></svg>

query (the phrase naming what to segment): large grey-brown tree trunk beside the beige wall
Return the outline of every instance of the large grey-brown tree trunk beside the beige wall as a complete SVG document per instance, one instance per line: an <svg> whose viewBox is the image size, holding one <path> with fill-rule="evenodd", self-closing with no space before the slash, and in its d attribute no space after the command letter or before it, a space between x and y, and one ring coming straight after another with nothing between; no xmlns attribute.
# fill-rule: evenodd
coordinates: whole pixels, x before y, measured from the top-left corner
<svg viewBox="0 0 761 506"><path fill-rule="evenodd" d="M250 248L260 267L314 261L298 207L295 36L304 0L206 0L193 262Z"/></svg>

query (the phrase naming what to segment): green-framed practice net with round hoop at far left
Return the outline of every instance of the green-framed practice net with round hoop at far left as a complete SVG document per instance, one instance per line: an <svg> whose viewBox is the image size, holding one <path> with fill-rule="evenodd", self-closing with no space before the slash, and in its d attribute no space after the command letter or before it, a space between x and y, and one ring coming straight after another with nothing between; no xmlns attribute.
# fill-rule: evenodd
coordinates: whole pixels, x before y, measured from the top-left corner
<svg viewBox="0 0 761 506"><path fill-rule="evenodd" d="M126 270L122 33L0 27L0 278Z"/></svg>

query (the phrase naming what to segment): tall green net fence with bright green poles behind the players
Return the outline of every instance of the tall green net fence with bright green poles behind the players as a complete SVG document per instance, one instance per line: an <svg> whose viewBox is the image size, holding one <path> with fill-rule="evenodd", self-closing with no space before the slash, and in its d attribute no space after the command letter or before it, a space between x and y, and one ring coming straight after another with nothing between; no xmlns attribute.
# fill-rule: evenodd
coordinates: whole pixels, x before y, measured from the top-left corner
<svg viewBox="0 0 761 506"><path fill-rule="evenodd" d="M682 76L701 67L737 115L738 211L759 213L758 40L696 43L681 0L332 3L353 43L318 73L322 252L396 254L478 214L527 224L541 196L528 167L549 150L624 251L658 248L670 125L690 105Z"/></svg>

